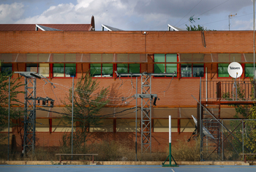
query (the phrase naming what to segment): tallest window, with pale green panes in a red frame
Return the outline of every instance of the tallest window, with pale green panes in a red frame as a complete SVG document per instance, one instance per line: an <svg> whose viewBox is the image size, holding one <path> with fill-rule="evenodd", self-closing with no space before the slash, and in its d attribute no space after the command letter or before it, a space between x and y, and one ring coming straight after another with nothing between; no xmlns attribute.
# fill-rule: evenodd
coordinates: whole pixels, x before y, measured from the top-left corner
<svg viewBox="0 0 256 172"><path fill-rule="evenodd" d="M166 55L155 54L154 62L155 62L154 73L163 74L163 73L173 73L174 71L177 71L177 63L167 63L167 62L177 62L176 54L166 54ZM174 77L177 77L177 75L175 75Z"/></svg>

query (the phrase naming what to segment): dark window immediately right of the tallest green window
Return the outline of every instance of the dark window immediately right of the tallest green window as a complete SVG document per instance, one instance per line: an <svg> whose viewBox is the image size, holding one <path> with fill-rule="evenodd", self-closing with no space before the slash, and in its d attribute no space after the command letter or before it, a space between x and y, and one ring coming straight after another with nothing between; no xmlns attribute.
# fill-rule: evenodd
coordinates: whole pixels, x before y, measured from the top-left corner
<svg viewBox="0 0 256 172"><path fill-rule="evenodd" d="M182 63L181 77L204 77L203 63Z"/></svg>

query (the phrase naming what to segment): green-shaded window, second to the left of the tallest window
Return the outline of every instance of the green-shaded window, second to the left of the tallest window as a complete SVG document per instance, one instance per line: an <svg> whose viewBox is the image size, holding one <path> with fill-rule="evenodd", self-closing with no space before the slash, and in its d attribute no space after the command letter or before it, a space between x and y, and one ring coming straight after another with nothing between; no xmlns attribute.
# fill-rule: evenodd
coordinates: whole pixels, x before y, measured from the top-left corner
<svg viewBox="0 0 256 172"><path fill-rule="evenodd" d="M111 63L91 63L91 77L113 77L113 64Z"/></svg>

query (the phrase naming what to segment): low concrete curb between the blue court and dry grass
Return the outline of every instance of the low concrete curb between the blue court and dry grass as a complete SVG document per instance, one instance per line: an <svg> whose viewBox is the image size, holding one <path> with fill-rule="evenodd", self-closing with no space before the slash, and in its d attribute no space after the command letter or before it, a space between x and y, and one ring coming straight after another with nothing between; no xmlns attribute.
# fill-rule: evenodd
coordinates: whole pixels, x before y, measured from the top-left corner
<svg viewBox="0 0 256 172"><path fill-rule="evenodd" d="M162 161L94 161L97 165L162 165ZM168 162L167 162L168 163ZM249 165L242 161L177 161L178 165ZM5 165L90 165L89 161L0 161Z"/></svg>

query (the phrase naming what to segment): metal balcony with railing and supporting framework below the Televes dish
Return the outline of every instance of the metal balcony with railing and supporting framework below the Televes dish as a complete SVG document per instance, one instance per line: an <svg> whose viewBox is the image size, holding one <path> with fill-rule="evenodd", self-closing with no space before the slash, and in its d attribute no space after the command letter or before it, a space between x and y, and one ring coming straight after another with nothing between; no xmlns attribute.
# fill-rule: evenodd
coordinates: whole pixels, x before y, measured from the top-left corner
<svg viewBox="0 0 256 172"><path fill-rule="evenodd" d="M233 141L236 141L238 144L241 144L243 147L244 153L244 122L241 122L239 125L243 125L242 134L243 139L239 139L234 132L237 130L233 128L232 130L228 129L223 122L223 119L220 117L221 106L222 105L252 105L255 103L255 96L252 93L254 90L254 82L237 82L236 86L239 87L240 96L234 94L233 82L231 81L222 81L222 82L213 82L205 81L200 82L200 100L197 101L198 109L200 112L197 112L197 134L200 133L200 128L204 127L211 133L211 136L203 136L200 134L200 154L201 160L211 160L212 155L218 155L219 160L225 159L225 142L229 143L233 147L237 155L239 155L236 146L233 146ZM236 90L237 91L237 90ZM197 111L198 111L197 109ZM241 119L243 120L243 119ZM233 140L229 138L232 137ZM251 152L247 149L248 152Z"/></svg>

